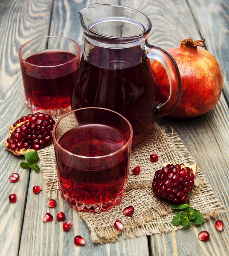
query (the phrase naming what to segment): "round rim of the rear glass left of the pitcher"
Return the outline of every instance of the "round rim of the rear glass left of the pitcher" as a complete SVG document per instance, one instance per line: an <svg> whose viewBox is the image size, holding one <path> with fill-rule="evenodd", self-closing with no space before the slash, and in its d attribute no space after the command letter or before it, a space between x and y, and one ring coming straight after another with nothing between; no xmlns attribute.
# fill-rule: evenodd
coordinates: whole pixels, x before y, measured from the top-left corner
<svg viewBox="0 0 229 256"><path fill-rule="evenodd" d="M70 40L70 41L72 41L74 44L77 45L77 47L78 47L78 53L77 53L77 55L76 55L72 60L67 61L67 62L65 62L65 63L62 63L62 64L59 64L59 65L54 65L54 66L35 65L35 64L29 63L29 62L26 61L24 58L22 58L21 51L22 51L22 48L23 48L24 46L26 46L27 44L31 43L32 41L36 41L36 40L38 40L38 39L45 39L45 38L61 38L61 39ZM26 42L25 44L23 44L23 45L20 47L20 49L18 50L18 56L19 56L19 59L20 59L21 61L23 61L24 63L29 64L29 65L31 65L31 66L33 66L33 67L42 67L42 68L60 67L60 66L66 65L66 64L71 63L72 61L76 60L77 58L79 58L79 57L80 57L80 53L81 53L80 45L79 45L76 41L72 40L71 38L66 38L66 37L60 36L60 35L47 35L47 36L41 36L41 37L38 37L38 38L31 39L31 40L29 40L28 42Z"/></svg>

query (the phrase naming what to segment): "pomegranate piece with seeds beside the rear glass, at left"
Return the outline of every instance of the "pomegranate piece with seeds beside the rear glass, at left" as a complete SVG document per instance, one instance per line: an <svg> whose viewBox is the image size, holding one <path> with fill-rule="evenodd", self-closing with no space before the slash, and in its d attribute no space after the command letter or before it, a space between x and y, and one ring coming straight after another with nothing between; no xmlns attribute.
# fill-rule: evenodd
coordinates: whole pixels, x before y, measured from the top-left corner
<svg viewBox="0 0 229 256"><path fill-rule="evenodd" d="M4 145L18 156L37 151L51 143L54 124L52 116L43 113L22 116L9 128Z"/></svg>

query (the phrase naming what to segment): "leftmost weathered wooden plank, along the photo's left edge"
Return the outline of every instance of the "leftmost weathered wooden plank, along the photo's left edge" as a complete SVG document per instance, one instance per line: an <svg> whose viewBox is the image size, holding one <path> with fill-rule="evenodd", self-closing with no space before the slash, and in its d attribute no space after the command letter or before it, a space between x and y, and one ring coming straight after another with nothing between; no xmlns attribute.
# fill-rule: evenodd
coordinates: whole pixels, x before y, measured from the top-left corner
<svg viewBox="0 0 229 256"><path fill-rule="evenodd" d="M32 38L47 35L52 0L2 0L0 3L0 251L17 255L20 245L29 172L21 169L23 157L16 157L3 146L9 126L29 113L25 104L18 50ZM11 183L9 176L19 173ZM11 204L8 196L17 194Z"/></svg>

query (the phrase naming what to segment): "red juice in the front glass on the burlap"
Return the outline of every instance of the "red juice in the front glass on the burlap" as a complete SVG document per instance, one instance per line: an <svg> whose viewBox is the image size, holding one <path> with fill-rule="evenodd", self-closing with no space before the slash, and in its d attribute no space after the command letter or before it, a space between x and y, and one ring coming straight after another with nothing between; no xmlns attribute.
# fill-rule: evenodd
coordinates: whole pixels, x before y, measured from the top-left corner
<svg viewBox="0 0 229 256"><path fill-rule="evenodd" d="M111 154L126 144L123 133L109 125L87 124L72 128L60 137L59 144L67 151L85 156L101 157ZM98 169L88 158L88 166L76 167L73 158L56 153L60 194L72 207L84 211L108 210L119 204L125 194L129 176L128 155L106 157ZM106 162L106 163L104 163ZM94 166L93 166L94 165Z"/></svg>

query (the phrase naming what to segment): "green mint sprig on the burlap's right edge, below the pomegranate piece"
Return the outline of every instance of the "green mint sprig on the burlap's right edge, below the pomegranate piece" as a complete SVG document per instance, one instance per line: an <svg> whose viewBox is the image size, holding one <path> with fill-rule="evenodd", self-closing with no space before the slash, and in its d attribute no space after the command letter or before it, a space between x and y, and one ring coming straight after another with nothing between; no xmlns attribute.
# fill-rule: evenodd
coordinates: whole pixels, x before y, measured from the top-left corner
<svg viewBox="0 0 229 256"><path fill-rule="evenodd" d="M190 204L173 204L172 210L181 210L172 219L172 224L175 226L183 225L184 228L191 227L192 224L201 225L203 223L203 214L190 207Z"/></svg>

